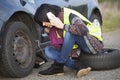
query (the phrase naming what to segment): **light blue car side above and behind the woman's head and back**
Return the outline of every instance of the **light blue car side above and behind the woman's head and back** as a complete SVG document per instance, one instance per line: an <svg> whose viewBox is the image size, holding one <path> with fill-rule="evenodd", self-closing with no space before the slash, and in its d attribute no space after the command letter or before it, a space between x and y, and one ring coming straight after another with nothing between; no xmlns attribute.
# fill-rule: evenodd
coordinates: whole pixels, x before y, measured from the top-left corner
<svg viewBox="0 0 120 80"><path fill-rule="evenodd" d="M72 8L88 19L90 18L93 9L97 8L99 10L97 0L36 0L36 7L39 7L43 3L57 4L60 7Z"/></svg>

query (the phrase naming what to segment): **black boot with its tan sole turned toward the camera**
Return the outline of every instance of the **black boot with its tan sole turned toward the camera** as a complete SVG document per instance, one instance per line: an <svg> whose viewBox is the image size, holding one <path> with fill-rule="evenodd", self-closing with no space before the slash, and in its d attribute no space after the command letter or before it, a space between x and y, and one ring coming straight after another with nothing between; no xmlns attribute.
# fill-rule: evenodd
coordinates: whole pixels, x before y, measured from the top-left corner
<svg viewBox="0 0 120 80"><path fill-rule="evenodd" d="M77 78L82 77L91 71L91 67L84 66L80 61L75 61L73 69L76 70Z"/></svg>

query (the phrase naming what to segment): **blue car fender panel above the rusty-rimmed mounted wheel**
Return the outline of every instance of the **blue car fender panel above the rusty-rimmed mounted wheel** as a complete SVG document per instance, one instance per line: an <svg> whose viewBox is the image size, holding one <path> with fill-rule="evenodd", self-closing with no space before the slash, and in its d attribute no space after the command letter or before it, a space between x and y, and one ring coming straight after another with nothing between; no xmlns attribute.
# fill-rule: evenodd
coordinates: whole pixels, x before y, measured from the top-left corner
<svg viewBox="0 0 120 80"><path fill-rule="evenodd" d="M34 15L29 4L22 6L19 0L0 0L0 19L6 22L14 13L18 11L27 12Z"/></svg>

